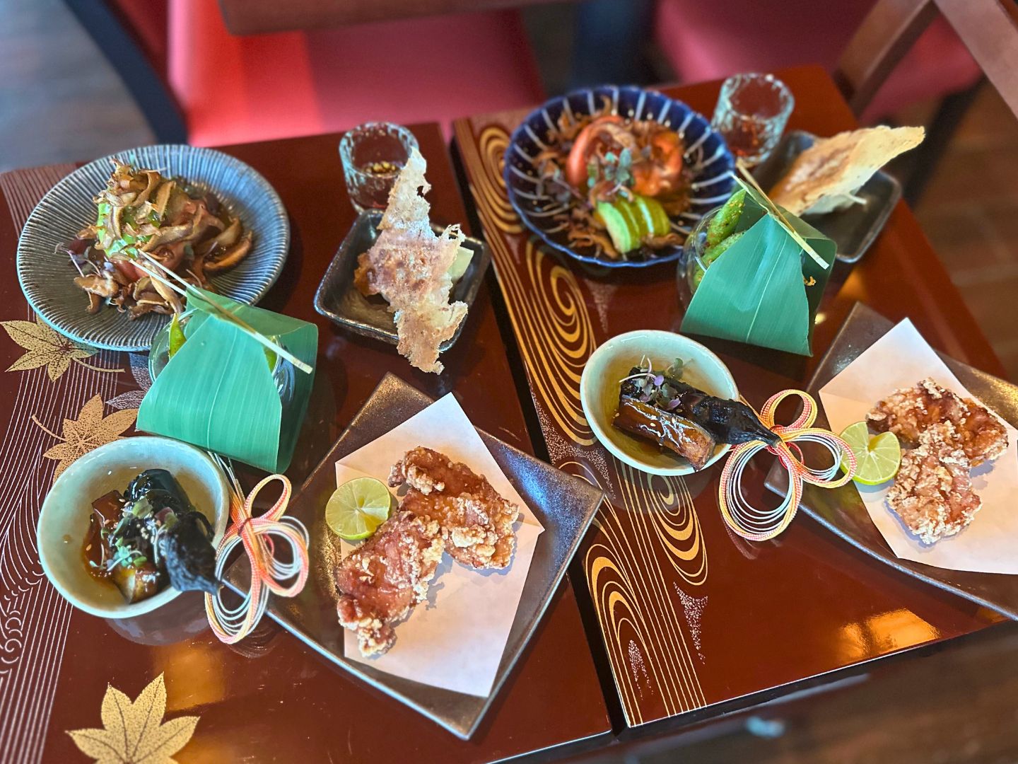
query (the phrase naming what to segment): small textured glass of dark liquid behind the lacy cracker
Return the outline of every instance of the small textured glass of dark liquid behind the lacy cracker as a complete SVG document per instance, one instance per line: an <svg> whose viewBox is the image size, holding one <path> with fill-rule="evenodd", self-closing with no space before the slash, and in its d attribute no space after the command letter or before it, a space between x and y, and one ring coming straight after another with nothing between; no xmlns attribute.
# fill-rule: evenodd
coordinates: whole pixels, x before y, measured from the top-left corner
<svg viewBox="0 0 1018 764"><path fill-rule="evenodd" d="M339 142L339 158L353 209L384 210L399 171L416 148L417 139L398 124L365 122L347 130Z"/></svg>

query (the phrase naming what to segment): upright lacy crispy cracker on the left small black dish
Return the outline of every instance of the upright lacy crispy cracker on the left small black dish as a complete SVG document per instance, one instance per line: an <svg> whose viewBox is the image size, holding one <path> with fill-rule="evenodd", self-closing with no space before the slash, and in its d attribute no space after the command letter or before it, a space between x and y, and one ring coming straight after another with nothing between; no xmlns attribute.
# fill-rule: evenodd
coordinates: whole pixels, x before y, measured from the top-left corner
<svg viewBox="0 0 1018 764"><path fill-rule="evenodd" d="M354 283L365 295L389 303L399 335L397 349L421 371L438 374L439 346L452 338L466 316L465 303L449 303L449 269L463 242L458 225L435 235L423 195L428 165L413 149L396 178L379 225L379 237L357 260Z"/></svg>

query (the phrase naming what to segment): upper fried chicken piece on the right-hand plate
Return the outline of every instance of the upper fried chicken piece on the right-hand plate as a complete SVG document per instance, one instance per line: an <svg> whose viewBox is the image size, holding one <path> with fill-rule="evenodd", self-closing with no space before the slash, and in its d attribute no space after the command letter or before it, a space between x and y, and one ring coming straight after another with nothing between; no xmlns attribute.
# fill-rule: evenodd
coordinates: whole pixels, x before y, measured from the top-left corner
<svg viewBox="0 0 1018 764"><path fill-rule="evenodd" d="M893 432L907 445L919 442L926 429L950 423L959 447L973 467L996 459L1008 448L1008 432L989 410L962 398L932 379L895 390L866 415L878 431Z"/></svg>

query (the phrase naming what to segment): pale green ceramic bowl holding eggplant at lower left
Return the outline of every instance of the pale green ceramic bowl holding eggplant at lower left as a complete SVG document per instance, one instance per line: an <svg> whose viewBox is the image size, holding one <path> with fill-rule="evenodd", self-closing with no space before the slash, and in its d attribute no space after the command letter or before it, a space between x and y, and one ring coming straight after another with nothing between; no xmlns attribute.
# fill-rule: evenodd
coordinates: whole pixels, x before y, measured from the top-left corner
<svg viewBox="0 0 1018 764"><path fill-rule="evenodd" d="M226 532L230 494L222 470L207 453L169 438L139 436L115 440L68 467L50 489L39 515L39 558L50 583L74 607L104 618L130 618L165 605L178 594L167 586L159 594L128 604L112 583L97 581L84 567L81 543L89 531L92 502L109 491L123 491L140 472L169 470L191 504L216 532Z"/></svg>

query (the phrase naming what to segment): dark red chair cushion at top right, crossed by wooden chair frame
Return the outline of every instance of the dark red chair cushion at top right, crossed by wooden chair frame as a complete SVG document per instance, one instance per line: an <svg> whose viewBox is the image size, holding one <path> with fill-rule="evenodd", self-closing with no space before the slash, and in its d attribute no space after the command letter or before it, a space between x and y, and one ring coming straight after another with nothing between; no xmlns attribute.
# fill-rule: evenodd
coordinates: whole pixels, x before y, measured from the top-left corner
<svg viewBox="0 0 1018 764"><path fill-rule="evenodd" d="M659 0L656 35L683 80L822 63L834 69L873 0ZM766 6L766 9L765 9ZM972 85L980 70L950 24L938 18L894 70L863 121Z"/></svg>

